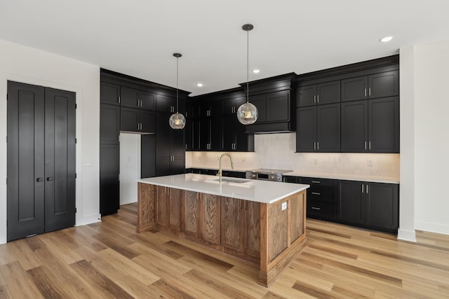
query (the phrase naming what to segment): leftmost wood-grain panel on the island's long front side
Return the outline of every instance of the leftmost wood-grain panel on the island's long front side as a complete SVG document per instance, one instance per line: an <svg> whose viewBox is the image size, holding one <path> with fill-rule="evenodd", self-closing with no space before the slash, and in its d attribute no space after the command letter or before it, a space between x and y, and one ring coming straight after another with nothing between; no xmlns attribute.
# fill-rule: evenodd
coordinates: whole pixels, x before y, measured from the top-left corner
<svg viewBox="0 0 449 299"><path fill-rule="evenodd" d="M138 183L138 232L154 226L156 186Z"/></svg>

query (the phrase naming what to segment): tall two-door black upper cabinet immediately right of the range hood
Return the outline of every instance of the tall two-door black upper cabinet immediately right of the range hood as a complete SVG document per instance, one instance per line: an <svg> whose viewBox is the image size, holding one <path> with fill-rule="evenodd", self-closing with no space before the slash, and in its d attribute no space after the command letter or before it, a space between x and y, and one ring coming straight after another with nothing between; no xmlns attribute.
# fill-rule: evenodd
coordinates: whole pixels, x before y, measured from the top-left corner
<svg viewBox="0 0 449 299"><path fill-rule="evenodd" d="M297 108L296 151L340 151L340 103Z"/></svg>

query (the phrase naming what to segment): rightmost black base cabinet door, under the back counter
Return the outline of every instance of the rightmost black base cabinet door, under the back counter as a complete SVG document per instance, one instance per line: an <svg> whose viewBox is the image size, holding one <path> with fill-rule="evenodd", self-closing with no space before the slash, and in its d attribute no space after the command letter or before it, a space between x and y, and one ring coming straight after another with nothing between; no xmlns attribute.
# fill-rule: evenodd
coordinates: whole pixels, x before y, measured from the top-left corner
<svg viewBox="0 0 449 299"><path fill-rule="evenodd" d="M366 225L397 230L398 194L398 185L395 184L366 184Z"/></svg>

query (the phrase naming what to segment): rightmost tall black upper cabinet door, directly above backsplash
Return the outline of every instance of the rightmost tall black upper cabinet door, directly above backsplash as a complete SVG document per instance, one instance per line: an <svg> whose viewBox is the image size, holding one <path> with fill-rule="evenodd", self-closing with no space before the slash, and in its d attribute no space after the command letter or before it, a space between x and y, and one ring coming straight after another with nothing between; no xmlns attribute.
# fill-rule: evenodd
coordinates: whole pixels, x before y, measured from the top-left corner
<svg viewBox="0 0 449 299"><path fill-rule="evenodd" d="M373 153L399 153L399 98L368 101L368 149Z"/></svg>

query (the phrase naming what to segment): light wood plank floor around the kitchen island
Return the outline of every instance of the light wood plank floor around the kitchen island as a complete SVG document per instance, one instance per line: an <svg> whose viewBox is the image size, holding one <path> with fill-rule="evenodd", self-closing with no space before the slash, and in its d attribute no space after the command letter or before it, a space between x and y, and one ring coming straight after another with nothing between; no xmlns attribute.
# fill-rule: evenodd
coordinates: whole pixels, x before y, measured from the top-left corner
<svg viewBox="0 0 449 299"><path fill-rule="evenodd" d="M449 298L449 236L414 244L309 219L307 248L264 288L249 263L137 234L136 209L0 245L0 298Z"/></svg>

